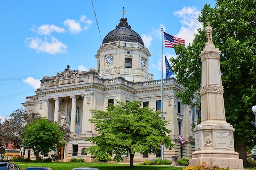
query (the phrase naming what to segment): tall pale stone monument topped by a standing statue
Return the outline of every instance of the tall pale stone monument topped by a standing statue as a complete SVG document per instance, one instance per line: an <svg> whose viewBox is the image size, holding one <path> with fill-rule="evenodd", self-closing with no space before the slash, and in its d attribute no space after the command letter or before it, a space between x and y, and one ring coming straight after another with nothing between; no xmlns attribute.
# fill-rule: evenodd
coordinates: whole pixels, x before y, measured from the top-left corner
<svg viewBox="0 0 256 170"><path fill-rule="evenodd" d="M220 72L221 51L212 42L212 28L207 23L208 42L200 53L202 62L201 124L195 126L195 152L189 166L202 162L221 168L243 169L243 160L234 150L234 128L227 123Z"/></svg>

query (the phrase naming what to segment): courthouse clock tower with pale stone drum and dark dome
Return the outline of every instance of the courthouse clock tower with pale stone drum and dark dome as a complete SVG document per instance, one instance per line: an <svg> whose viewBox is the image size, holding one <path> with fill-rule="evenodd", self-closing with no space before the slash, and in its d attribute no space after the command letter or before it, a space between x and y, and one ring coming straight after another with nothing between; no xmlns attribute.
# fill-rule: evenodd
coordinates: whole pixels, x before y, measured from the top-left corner
<svg viewBox="0 0 256 170"><path fill-rule="evenodd" d="M131 29L126 18L121 18L116 29L103 39L95 55L99 77L124 77L132 82L151 81L153 75L148 73L150 56L139 34Z"/></svg>

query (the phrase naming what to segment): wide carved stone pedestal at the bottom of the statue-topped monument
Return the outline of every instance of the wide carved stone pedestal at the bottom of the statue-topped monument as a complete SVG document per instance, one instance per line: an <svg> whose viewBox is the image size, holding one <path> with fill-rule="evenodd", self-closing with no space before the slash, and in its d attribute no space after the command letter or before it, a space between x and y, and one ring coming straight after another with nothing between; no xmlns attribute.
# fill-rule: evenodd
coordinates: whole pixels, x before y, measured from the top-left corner
<svg viewBox="0 0 256 170"><path fill-rule="evenodd" d="M203 123L197 125L195 132L195 152L189 159L189 166L207 163L209 166L219 166L243 170L243 160L234 151L234 128L226 124Z"/></svg>

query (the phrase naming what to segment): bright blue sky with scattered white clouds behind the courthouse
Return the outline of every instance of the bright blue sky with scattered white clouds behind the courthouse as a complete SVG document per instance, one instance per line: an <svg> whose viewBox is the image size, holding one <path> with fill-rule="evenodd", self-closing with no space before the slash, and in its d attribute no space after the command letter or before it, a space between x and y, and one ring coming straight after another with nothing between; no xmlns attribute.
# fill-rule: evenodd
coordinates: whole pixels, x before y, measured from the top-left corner
<svg viewBox="0 0 256 170"><path fill-rule="evenodd" d="M161 27L188 45L202 27L197 18L206 3L214 7L216 1L0 0L0 118L22 108L45 75L67 65L79 71L97 68L94 55L119 24L123 7L124 18L151 53L149 72L161 79ZM172 48L163 53L175 56Z"/></svg>

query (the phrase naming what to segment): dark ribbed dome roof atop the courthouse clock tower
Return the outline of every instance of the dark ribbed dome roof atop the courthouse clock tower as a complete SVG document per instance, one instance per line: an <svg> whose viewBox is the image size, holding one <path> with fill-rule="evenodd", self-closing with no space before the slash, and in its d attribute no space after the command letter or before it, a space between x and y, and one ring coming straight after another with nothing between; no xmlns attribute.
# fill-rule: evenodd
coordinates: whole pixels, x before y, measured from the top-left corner
<svg viewBox="0 0 256 170"><path fill-rule="evenodd" d="M141 37L138 33L131 29L131 26L127 23L127 18L121 18L120 23L116 26L116 29L110 31L103 39L103 44L115 41L126 42L139 42L144 45Z"/></svg>

